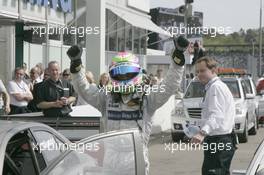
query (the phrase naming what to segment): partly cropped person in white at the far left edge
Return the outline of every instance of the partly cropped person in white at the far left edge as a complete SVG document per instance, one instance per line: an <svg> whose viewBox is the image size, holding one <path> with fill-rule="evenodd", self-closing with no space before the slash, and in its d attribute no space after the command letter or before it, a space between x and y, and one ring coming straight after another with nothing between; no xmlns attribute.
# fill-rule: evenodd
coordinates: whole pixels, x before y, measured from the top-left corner
<svg viewBox="0 0 264 175"><path fill-rule="evenodd" d="M7 90L0 79L0 115L8 114L10 112L10 97Z"/></svg>

